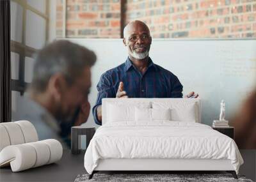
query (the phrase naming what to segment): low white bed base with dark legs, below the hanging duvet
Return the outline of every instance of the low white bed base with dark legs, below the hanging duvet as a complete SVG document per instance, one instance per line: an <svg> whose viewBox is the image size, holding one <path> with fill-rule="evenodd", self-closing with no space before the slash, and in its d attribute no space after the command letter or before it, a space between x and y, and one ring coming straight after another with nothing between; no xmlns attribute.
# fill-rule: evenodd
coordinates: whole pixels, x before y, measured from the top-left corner
<svg viewBox="0 0 256 182"><path fill-rule="evenodd" d="M119 172L150 172L150 173L169 173L174 171L226 171L231 173L237 179L236 171L231 165L230 160L210 160L210 159L124 159L124 158L109 158L99 160L99 164L90 174L89 179L92 179L93 174L99 171L119 171Z"/></svg>

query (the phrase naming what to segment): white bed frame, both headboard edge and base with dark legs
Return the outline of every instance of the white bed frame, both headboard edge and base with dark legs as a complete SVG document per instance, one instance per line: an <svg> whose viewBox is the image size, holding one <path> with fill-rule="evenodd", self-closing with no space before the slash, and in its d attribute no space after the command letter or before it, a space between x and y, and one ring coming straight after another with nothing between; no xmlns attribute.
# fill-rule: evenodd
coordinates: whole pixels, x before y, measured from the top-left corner
<svg viewBox="0 0 256 182"><path fill-rule="evenodd" d="M195 102L198 106L196 114L198 114L197 123L201 122L201 102L200 99L182 99L182 98L129 98L129 99L119 99L121 102L132 103L132 102L143 102L154 101L154 100L163 100L164 102L172 100L173 102ZM106 103L116 102L115 98L104 98L102 100L102 125L106 123ZM212 160L212 159L163 159L163 158L108 158L100 159L97 167L94 169L92 174L90 174L89 179L92 179L93 174L100 171L119 171L119 172L139 172L147 171L150 173L169 173L170 171L193 171L193 172L202 172L202 171L226 171L231 173L232 176L237 179L236 171L231 164L230 160Z"/></svg>

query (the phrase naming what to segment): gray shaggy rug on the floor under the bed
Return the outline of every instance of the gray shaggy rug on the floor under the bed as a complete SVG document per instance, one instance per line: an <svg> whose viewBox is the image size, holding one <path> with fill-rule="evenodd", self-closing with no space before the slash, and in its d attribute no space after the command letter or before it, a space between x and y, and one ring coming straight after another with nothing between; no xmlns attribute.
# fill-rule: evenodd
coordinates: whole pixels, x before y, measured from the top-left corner
<svg viewBox="0 0 256 182"><path fill-rule="evenodd" d="M243 181L253 182L251 179L246 179L244 176L238 176L239 179L234 179L232 174L94 174L92 179L88 179L89 174L78 175L75 182L85 181L172 181L172 182L190 182L190 181Z"/></svg>

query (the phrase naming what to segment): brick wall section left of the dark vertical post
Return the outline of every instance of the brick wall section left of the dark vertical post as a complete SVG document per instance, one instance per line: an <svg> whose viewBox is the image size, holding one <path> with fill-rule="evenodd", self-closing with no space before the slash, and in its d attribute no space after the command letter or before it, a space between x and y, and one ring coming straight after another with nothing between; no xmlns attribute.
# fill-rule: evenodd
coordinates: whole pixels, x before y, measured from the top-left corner
<svg viewBox="0 0 256 182"><path fill-rule="evenodd" d="M57 3L57 36L62 29L62 1ZM120 38L120 0L66 0L66 37Z"/></svg>

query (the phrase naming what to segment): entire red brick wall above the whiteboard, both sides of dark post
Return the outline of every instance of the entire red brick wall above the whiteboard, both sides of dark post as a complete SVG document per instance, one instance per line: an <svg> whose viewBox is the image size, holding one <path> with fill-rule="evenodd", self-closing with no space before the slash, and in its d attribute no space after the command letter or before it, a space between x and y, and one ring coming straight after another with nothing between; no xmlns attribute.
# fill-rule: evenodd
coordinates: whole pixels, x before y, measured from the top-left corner
<svg viewBox="0 0 256 182"><path fill-rule="evenodd" d="M67 37L120 38L120 1L67 0ZM256 37L255 0L127 0L125 9L125 24L142 20L153 38Z"/></svg>

